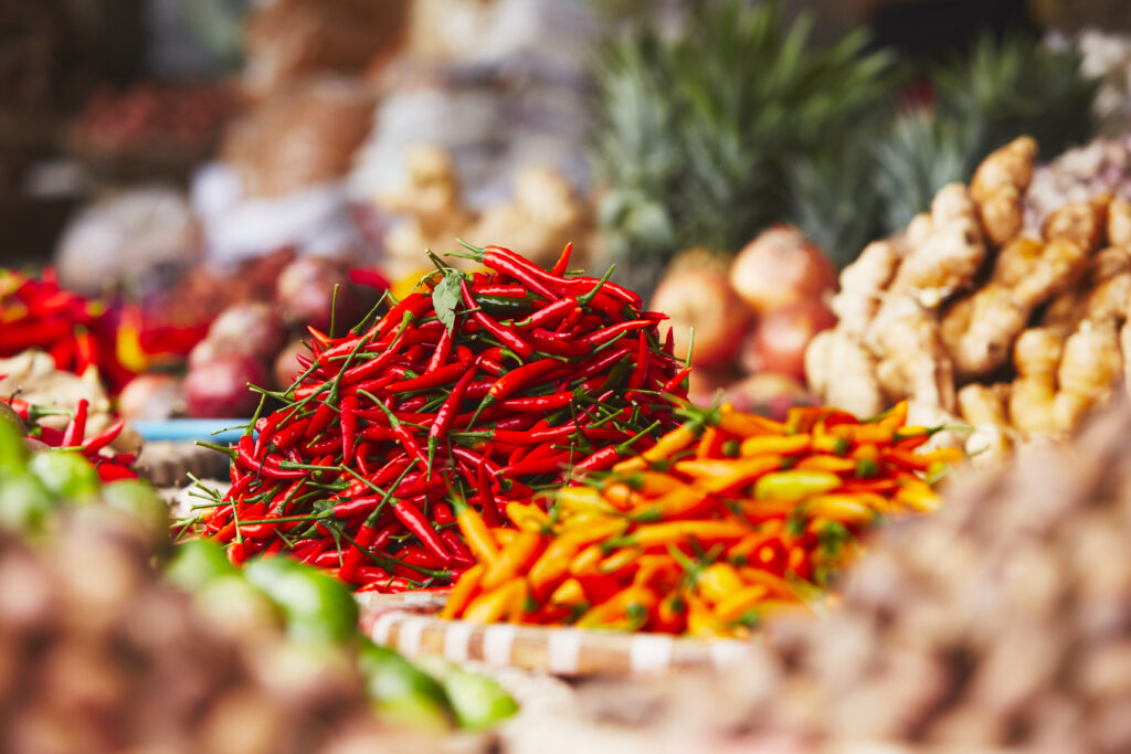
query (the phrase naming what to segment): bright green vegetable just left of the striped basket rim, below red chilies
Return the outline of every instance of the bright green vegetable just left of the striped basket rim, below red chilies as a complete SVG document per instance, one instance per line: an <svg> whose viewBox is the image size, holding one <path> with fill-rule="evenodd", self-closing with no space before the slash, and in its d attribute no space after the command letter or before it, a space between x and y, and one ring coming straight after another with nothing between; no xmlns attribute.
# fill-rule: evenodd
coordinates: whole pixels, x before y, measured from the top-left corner
<svg viewBox="0 0 1131 754"><path fill-rule="evenodd" d="M337 579L290 557L252 561L243 574L274 600L300 641L340 642L357 632L357 604Z"/></svg>

